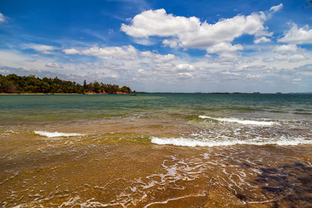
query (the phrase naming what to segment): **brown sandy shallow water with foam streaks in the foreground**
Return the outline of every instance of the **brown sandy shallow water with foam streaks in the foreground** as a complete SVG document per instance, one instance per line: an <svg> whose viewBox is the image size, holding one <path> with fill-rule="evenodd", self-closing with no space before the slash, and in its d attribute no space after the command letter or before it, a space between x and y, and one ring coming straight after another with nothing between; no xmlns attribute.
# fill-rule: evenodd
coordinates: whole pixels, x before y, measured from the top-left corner
<svg viewBox="0 0 312 208"><path fill-rule="evenodd" d="M311 144L191 147L151 142L200 128L189 118L164 114L1 125L0 205L312 206ZM46 137L36 130L81 135Z"/></svg>

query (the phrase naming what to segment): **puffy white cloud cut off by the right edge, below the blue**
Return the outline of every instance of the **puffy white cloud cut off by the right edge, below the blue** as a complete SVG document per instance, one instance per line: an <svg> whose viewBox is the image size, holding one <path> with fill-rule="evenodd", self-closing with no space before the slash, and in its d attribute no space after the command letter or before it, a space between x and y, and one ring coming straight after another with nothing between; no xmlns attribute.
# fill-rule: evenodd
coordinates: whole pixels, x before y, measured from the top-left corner
<svg viewBox="0 0 312 208"><path fill-rule="evenodd" d="M291 44L312 44L312 30L309 30L308 25L298 28L297 24L293 23L291 30L286 31L284 37L277 41Z"/></svg>

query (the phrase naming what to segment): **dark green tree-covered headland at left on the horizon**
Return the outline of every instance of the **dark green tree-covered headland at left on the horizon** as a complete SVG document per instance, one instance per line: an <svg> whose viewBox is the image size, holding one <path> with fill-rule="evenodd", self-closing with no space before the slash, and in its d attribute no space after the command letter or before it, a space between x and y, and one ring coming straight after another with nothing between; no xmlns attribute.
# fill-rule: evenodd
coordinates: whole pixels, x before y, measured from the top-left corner
<svg viewBox="0 0 312 208"><path fill-rule="evenodd" d="M131 94L130 87L103 84L94 81L83 85L55 78L36 78L35 75L8 76L0 74L0 94Z"/></svg>

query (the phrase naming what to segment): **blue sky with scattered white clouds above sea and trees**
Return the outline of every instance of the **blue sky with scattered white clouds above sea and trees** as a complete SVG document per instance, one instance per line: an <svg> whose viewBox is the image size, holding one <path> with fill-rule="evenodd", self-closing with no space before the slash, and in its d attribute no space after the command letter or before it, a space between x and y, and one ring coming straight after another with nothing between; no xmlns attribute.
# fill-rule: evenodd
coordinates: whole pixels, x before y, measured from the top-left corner
<svg viewBox="0 0 312 208"><path fill-rule="evenodd" d="M137 92L312 92L308 0L0 0L0 73Z"/></svg>

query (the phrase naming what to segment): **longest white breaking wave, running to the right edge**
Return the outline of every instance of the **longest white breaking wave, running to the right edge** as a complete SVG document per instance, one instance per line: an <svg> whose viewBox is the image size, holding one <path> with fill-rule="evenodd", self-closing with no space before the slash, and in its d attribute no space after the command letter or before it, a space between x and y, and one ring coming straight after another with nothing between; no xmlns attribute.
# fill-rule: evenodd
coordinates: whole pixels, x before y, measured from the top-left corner
<svg viewBox="0 0 312 208"><path fill-rule="evenodd" d="M261 139L259 141L255 140L240 140L240 139L223 139L214 141L212 139L194 139L194 138L159 138L152 137L151 142L153 144L159 145L173 145L173 146L205 146L205 147L214 147L214 146L234 146L236 144L246 144L246 145L279 145L279 146L297 146L299 144L312 144L312 140L305 140L302 138L294 139Z"/></svg>

